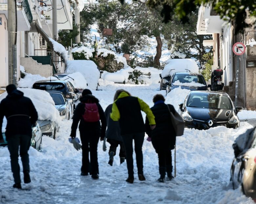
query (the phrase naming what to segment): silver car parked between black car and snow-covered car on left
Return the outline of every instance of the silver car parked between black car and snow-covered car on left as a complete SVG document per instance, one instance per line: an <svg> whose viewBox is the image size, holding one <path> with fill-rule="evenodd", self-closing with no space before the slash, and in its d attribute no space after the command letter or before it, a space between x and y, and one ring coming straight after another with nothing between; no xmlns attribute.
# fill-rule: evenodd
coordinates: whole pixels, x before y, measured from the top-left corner
<svg viewBox="0 0 256 204"><path fill-rule="evenodd" d="M62 92L59 91L47 91L52 96L55 103L55 108L59 111L61 119L69 120L74 112L72 108L72 99L67 99Z"/></svg>

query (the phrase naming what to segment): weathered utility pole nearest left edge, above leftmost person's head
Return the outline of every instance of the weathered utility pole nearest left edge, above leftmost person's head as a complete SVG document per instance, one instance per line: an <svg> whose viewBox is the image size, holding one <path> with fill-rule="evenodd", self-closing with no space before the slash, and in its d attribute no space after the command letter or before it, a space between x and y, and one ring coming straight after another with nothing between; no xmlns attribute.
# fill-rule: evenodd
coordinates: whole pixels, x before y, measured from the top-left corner
<svg viewBox="0 0 256 204"><path fill-rule="evenodd" d="M17 84L16 0L8 1L8 83Z"/></svg>

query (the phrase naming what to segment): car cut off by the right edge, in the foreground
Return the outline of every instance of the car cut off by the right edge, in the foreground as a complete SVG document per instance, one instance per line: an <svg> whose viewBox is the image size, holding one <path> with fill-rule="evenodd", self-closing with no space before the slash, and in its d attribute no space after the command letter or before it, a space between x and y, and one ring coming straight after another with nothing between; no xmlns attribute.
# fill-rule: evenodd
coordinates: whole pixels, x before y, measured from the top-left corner
<svg viewBox="0 0 256 204"><path fill-rule="evenodd" d="M230 169L233 189L241 185L243 193L256 201L256 127L239 135L233 148L235 158Z"/></svg>

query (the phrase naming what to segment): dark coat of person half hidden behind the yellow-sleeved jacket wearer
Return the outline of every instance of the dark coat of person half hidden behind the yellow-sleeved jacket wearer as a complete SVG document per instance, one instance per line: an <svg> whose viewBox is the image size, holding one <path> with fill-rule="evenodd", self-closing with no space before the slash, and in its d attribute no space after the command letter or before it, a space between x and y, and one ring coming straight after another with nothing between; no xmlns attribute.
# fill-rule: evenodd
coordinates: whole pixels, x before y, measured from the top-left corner
<svg viewBox="0 0 256 204"><path fill-rule="evenodd" d="M105 110L105 116L107 119L107 127L108 127L107 131L106 131L106 138L112 139L112 140L117 140L117 141L122 141L121 134L120 134L119 122L113 121L110 118L110 113L112 111L112 105L113 104L110 104Z"/></svg>

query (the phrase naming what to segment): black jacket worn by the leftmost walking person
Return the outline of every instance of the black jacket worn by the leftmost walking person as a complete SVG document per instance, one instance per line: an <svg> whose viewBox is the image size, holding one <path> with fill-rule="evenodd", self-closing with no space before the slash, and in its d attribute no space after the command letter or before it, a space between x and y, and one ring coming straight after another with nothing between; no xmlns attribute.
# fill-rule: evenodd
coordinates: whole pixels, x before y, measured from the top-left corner
<svg viewBox="0 0 256 204"><path fill-rule="evenodd" d="M6 139L12 135L24 134L32 136L32 125L37 120L37 112L30 98L23 92L14 90L0 103L0 139L2 139L2 123L7 119Z"/></svg>

